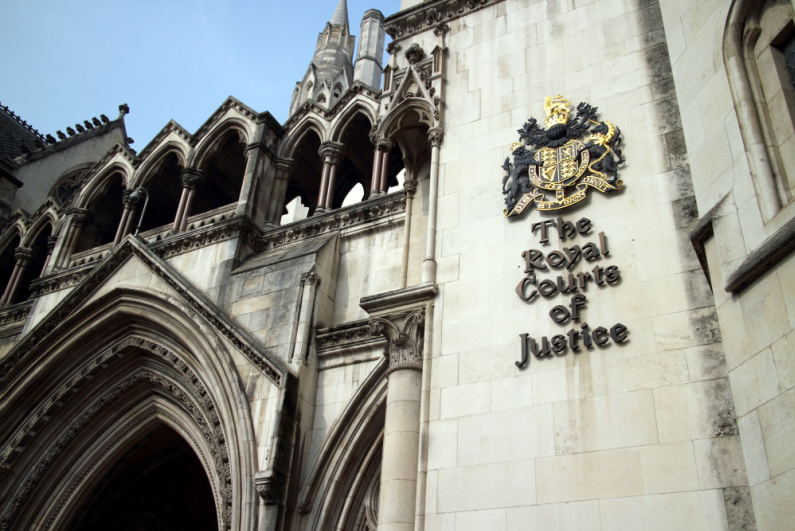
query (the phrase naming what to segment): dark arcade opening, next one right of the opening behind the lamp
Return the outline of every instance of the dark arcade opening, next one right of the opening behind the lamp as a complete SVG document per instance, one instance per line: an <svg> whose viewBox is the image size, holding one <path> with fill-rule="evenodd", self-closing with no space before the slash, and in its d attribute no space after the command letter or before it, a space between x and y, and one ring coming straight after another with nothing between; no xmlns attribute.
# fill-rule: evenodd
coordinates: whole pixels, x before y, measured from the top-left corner
<svg viewBox="0 0 795 531"><path fill-rule="evenodd" d="M218 149L200 169L204 170L204 183L196 192L191 215L209 212L240 199L246 154L237 131L224 135Z"/></svg>

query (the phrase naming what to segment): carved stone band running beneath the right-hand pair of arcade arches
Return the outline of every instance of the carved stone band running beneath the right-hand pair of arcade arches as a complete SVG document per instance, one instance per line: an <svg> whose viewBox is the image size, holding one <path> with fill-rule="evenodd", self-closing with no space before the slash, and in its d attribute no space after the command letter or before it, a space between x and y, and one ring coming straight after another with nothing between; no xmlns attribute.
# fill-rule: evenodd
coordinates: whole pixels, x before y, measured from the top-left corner
<svg viewBox="0 0 795 531"><path fill-rule="evenodd" d="M406 192L400 191L362 201L321 216L278 227L262 236L263 249L274 249L334 230L376 221L406 211Z"/></svg>

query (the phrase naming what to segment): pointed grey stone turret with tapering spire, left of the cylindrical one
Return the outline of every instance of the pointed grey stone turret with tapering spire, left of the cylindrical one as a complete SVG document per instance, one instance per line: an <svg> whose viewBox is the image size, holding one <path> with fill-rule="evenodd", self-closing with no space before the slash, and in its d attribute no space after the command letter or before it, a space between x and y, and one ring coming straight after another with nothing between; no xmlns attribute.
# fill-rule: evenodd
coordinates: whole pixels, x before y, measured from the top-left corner
<svg viewBox="0 0 795 531"><path fill-rule="evenodd" d="M306 101L330 109L353 83L353 46L348 28L348 2L339 0L331 19L317 37L315 56L304 79L295 86L290 114Z"/></svg>

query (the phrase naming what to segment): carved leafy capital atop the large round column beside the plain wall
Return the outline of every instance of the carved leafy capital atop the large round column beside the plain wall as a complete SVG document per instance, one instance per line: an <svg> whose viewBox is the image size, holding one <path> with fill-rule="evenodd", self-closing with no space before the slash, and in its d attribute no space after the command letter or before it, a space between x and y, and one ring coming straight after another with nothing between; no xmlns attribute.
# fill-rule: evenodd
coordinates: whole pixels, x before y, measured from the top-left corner
<svg viewBox="0 0 795 531"><path fill-rule="evenodd" d="M384 336L388 344L384 355L389 359L389 372L402 369L422 370L422 349L425 336L425 309L370 319L370 335Z"/></svg>

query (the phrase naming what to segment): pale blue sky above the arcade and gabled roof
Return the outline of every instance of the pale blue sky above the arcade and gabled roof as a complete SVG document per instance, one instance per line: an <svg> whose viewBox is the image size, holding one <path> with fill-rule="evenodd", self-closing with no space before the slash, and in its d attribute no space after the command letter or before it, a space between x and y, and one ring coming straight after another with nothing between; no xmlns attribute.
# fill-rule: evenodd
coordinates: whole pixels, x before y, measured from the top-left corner
<svg viewBox="0 0 795 531"><path fill-rule="evenodd" d="M230 95L284 122L337 0L4 4L0 102L53 136L127 103L140 151L172 118L195 131ZM348 0L354 35L372 8L389 16L400 0Z"/></svg>

